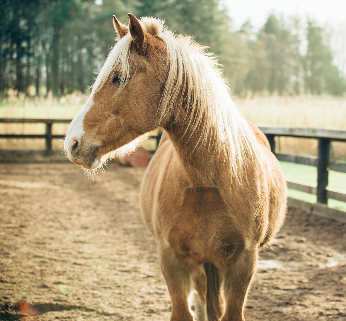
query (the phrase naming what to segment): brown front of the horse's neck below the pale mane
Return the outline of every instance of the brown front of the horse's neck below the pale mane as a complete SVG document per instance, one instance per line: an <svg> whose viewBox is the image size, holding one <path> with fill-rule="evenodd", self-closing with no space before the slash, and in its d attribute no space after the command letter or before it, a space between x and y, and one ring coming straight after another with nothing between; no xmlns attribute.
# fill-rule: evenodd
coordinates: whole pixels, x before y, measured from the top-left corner
<svg viewBox="0 0 346 321"><path fill-rule="evenodd" d="M230 172L227 166L228 155L217 143L216 128L210 128L210 140L203 143L201 126L194 128L191 123L186 128L175 120L173 125L165 128L170 136L181 164L194 186L219 186L223 182L229 184ZM191 130L194 128L194 130Z"/></svg>

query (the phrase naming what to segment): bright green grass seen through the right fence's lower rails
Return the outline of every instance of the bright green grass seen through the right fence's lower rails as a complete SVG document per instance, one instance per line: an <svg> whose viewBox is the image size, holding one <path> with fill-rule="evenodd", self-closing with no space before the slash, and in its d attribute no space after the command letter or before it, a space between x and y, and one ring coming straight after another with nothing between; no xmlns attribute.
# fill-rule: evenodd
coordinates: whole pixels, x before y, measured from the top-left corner
<svg viewBox="0 0 346 321"><path fill-rule="evenodd" d="M304 185L316 186L317 168L308 165L295 164L290 162L280 162L285 178L288 181ZM346 193L346 173L329 171L328 189L340 193ZM309 203L316 203L316 195L301 192L289 188L287 196L304 200ZM328 199L328 206L346 211L346 203L335 199Z"/></svg>

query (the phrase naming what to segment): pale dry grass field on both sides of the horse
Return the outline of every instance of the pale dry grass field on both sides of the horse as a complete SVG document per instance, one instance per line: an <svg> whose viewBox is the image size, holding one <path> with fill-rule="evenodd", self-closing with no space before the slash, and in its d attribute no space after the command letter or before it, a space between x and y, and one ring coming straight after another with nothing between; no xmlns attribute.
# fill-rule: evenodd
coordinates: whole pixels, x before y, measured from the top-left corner
<svg viewBox="0 0 346 321"><path fill-rule="evenodd" d="M0 118L67 118L72 119L83 106L86 96L73 93L60 99L16 97L15 93L0 101ZM346 130L346 98L335 97L255 97L235 99L245 117L255 124L329 128ZM68 124L54 124L53 134L66 133ZM44 124L3 124L0 133L41 134ZM53 148L62 142L53 140ZM333 156L346 159L346 144L333 143ZM316 154L317 141L280 137L281 152ZM44 149L43 139L0 139L0 149Z"/></svg>

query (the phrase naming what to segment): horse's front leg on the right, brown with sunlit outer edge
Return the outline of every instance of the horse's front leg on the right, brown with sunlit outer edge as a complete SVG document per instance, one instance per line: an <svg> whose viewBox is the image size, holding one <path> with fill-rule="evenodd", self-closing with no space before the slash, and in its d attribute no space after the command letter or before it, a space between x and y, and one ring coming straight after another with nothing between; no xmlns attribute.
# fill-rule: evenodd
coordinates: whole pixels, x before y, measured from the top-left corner
<svg viewBox="0 0 346 321"><path fill-rule="evenodd" d="M221 268L226 311L221 321L244 321L244 305L256 270L258 249L244 250ZM226 264L225 264L226 263Z"/></svg>

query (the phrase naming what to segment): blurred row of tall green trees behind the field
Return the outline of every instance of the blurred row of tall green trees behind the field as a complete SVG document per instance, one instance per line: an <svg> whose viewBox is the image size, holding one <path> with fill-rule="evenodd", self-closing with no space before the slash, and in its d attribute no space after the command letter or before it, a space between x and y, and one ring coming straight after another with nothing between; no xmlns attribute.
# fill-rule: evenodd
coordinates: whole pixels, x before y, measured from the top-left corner
<svg viewBox="0 0 346 321"><path fill-rule="evenodd" d="M0 0L0 10L2 95L84 93L115 43L112 14L127 24L128 12L209 46L235 95L346 93L330 34L312 20L270 15L260 30L233 30L219 0Z"/></svg>

